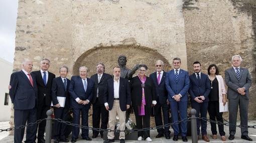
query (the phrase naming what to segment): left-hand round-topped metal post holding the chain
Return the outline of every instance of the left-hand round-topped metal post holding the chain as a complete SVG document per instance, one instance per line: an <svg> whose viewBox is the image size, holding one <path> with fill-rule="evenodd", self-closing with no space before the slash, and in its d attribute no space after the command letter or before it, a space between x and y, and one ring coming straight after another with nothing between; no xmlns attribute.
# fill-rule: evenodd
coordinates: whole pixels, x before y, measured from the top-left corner
<svg viewBox="0 0 256 143"><path fill-rule="evenodd" d="M48 110L46 112L47 118L46 118L46 126L45 126L45 142L51 143L52 140L52 110Z"/></svg>

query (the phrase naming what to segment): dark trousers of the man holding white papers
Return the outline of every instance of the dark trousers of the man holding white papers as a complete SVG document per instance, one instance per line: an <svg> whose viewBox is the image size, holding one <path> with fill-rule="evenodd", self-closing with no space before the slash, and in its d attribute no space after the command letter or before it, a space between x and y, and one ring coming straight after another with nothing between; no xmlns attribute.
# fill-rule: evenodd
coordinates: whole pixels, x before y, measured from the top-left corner
<svg viewBox="0 0 256 143"><path fill-rule="evenodd" d="M68 118L68 109L67 107L54 107L54 118L60 118L67 121ZM66 124L59 121L54 121L53 126L53 138L54 139L65 139L65 129Z"/></svg>

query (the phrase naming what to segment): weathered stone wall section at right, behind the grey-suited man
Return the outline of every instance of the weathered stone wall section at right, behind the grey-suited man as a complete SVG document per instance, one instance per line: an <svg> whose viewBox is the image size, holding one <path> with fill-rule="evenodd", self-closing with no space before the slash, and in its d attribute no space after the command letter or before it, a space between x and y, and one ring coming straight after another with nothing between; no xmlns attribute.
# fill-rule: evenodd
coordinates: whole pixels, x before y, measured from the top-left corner
<svg viewBox="0 0 256 143"><path fill-rule="evenodd" d="M224 77L234 54L242 56L242 66L252 77L249 118L255 119L255 27L254 0L184 0L183 14L187 45L188 70L200 61L203 72L215 63Z"/></svg>

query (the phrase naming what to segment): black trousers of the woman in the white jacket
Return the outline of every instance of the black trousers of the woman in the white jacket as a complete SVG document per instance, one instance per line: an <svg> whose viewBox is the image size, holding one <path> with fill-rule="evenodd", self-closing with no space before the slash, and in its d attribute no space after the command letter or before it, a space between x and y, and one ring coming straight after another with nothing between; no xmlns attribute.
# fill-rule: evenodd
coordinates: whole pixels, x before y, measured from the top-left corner
<svg viewBox="0 0 256 143"><path fill-rule="evenodd" d="M219 112L219 101L209 101L208 113L210 116L210 120L216 121L217 119L218 122L223 123L222 112ZM218 124L218 128L219 128L219 134L221 136L225 135L224 125ZM211 132L212 134L217 134L216 123L214 122L211 122Z"/></svg>

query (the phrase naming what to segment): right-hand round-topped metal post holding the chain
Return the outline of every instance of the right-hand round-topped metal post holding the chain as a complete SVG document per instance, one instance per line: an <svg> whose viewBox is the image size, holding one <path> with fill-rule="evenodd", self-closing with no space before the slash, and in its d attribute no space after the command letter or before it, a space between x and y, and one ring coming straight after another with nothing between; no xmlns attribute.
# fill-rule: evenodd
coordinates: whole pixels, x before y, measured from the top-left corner
<svg viewBox="0 0 256 143"><path fill-rule="evenodd" d="M192 108L190 110L191 113L191 137L192 137L192 142L197 143L197 126L196 126L196 109Z"/></svg>

